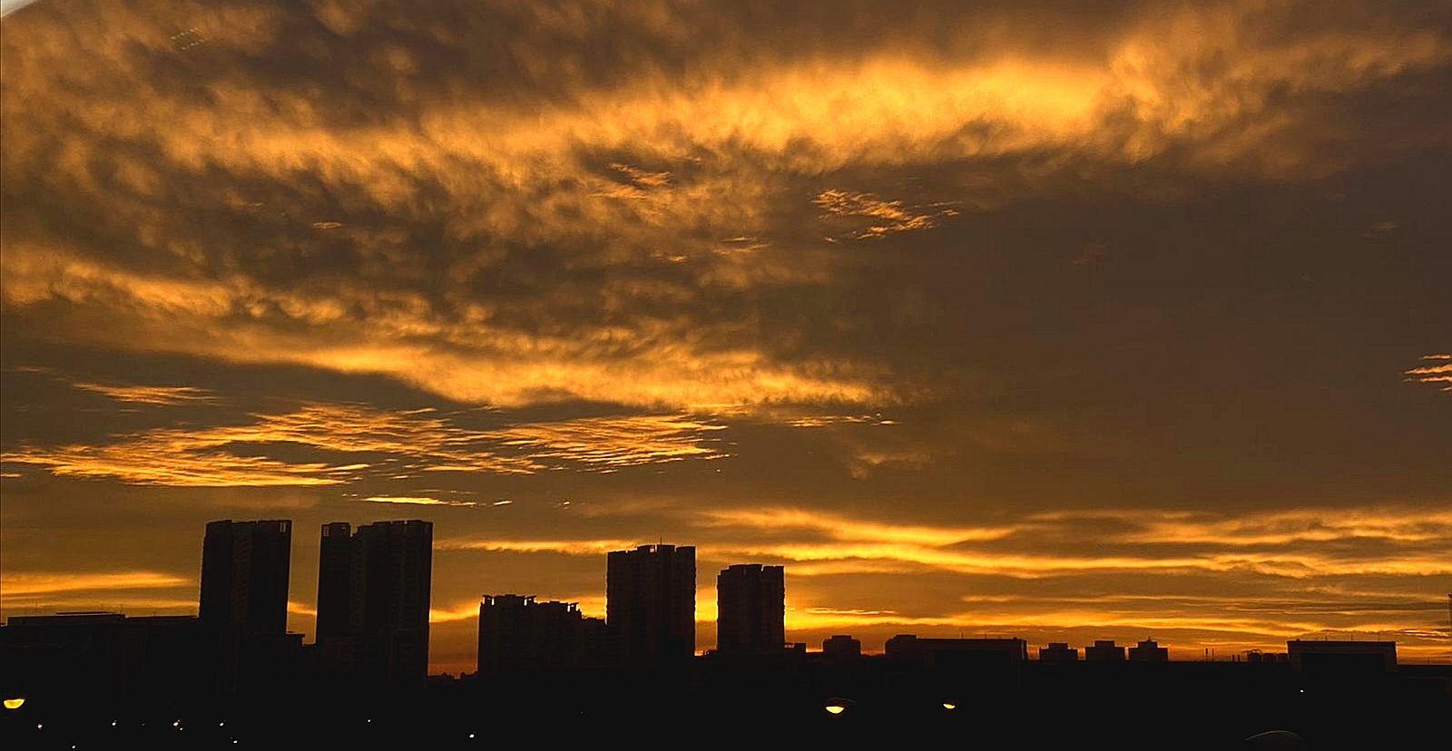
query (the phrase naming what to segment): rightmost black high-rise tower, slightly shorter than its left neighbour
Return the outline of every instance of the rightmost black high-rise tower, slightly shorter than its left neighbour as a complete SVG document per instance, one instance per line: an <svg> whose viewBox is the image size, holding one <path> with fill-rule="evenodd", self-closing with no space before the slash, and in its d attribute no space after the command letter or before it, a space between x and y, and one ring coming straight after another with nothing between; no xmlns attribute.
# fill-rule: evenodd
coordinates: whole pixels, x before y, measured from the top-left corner
<svg viewBox="0 0 1452 751"><path fill-rule="evenodd" d="M780 651L786 632L786 578L780 565L736 564L716 576L716 648Z"/></svg>

